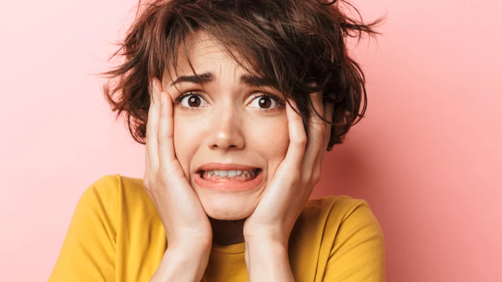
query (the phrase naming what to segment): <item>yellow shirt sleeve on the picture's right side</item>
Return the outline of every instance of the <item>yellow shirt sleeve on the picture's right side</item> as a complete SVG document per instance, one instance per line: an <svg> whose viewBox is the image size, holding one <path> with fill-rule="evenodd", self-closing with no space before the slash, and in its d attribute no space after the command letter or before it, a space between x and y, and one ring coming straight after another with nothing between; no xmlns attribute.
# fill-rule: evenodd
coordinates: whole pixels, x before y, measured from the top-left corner
<svg viewBox="0 0 502 282"><path fill-rule="evenodd" d="M382 228L365 201L349 209L336 233L325 282L385 282Z"/></svg>

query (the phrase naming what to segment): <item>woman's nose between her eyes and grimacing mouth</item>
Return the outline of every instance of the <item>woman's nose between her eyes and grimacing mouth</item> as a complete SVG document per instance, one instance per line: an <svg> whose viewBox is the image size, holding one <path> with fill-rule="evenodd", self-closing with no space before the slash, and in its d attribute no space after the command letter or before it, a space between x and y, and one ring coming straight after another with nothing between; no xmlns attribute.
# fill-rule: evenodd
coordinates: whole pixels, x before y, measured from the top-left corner
<svg viewBox="0 0 502 282"><path fill-rule="evenodd" d="M219 109L212 120L211 131L207 139L209 149L231 150L244 148L242 118L237 110Z"/></svg>

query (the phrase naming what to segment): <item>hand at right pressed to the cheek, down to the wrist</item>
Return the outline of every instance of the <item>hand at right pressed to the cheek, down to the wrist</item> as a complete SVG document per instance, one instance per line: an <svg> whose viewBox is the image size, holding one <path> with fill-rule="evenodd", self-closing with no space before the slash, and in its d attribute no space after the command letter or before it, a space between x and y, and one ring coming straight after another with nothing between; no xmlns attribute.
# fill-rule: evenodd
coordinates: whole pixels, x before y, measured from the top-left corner
<svg viewBox="0 0 502 282"><path fill-rule="evenodd" d="M312 94L312 102L320 115L331 117L333 107L323 107L321 95L320 92ZM290 102L296 108L296 103ZM290 137L288 152L265 189L258 207L244 222L246 242L273 241L287 248L293 225L320 178L324 150L329 140L329 133L325 136L324 132L328 132L330 124L325 124L312 111L307 144L302 117L289 104L286 104L286 114Z"/></svg>

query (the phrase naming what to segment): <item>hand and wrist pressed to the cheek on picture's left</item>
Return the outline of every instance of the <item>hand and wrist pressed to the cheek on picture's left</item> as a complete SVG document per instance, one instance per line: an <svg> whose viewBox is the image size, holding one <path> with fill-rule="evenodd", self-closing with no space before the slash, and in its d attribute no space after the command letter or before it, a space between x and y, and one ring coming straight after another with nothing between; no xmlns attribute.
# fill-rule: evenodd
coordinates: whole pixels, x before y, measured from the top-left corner
<svg viewBox="0 0 502 282"><path fill-rule="evenodd" d="M183 275L186 277L181 279L183 281L192 278L200 281L211 249L211 225L175 156L171 96L162 92L162 84L157 78L153 79L150 88L143 183L164 225L168 244L152 280L161 277L180 280L179 275ZM198 260L199 263L194 263ZM186 264L192 267L198 264L194 269L197 273L187 273L190 267L185 268ZM182 268L184 271L176 274Z"/></svg>

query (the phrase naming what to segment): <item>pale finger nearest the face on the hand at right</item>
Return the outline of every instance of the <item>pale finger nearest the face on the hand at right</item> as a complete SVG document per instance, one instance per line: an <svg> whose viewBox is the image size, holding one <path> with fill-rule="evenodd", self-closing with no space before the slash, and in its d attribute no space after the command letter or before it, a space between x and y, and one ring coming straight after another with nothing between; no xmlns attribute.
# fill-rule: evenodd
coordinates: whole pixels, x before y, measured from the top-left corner
<svg viewBox="0 0 502 282"><path fill-rule="evenodd" d="M295 101L291 100L290 103L298 110ZM302 117L288 103L286 103L286 115L288 117L289 147L284 162L289 164L288 167L291 169L300 169L303 154L305 153L307 134L303 127Z"/></svg>

